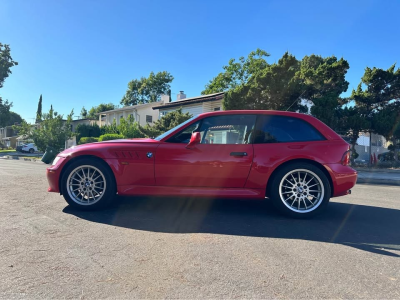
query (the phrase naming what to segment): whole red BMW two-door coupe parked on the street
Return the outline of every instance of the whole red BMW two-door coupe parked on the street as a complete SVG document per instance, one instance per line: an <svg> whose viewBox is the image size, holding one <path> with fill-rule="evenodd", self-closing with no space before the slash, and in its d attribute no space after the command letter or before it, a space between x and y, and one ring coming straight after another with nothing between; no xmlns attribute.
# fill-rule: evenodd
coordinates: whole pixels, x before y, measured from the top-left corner
<svg viewBox="0 0 400 300"><path fill-rule="evenodd" d="M349 145L316 118L282 111L201 114L154 139L85 144L47 169L49 191L74 208L98 209L114 195L269 198L308 217L350 193L357 172Z"/></svg>

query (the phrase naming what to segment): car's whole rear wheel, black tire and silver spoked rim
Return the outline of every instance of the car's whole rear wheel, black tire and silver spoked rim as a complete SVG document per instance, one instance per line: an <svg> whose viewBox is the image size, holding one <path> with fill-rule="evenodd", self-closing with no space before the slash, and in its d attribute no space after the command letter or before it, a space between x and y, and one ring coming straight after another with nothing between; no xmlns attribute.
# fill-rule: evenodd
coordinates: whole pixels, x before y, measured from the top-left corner
<svg viewBox="0 0 400 300"><path fill-rule="evenodd" d="M331 186L318 167L293 163L282 167L274 175L269 194L275 207L285 215L308 218L327 206Z"/></svg>

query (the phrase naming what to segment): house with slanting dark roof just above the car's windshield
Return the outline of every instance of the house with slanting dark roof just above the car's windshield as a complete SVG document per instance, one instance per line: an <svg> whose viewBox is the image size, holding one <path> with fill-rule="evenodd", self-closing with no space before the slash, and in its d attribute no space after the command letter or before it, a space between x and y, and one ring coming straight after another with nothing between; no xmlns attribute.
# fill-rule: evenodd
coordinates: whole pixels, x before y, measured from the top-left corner
<svg viewBox="0 0 400 300"><path fill-rule="evenodd" d="M222 110L222 99L224 93L215 93L209 95L203 95L193 98L186 98L186 95L181 91L177 100L174 102L163 102L161 105L154 106L154 110L159 110L159 117L161 118L165 114L182 108L183 113L189 113L191 115L198 116L205 112L212 112Z"/></svg>

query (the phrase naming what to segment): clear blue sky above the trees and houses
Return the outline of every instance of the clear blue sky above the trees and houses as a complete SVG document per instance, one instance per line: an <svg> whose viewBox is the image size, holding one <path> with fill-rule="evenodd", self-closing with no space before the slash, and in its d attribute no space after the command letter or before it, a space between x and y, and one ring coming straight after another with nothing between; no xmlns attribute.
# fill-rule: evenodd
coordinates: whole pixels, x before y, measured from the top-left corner
<svg viewBox="0 0 400 300"><path fill-rule="evenodd" d="M43 111L79 115L166 70L172 92L193 97L256 48L269 62L285 51L344 57L351 91L365 67L400 66L399 17L398 0L1 0L0 41L19 65L0 95L29 122L40 94Z"/></svg>

